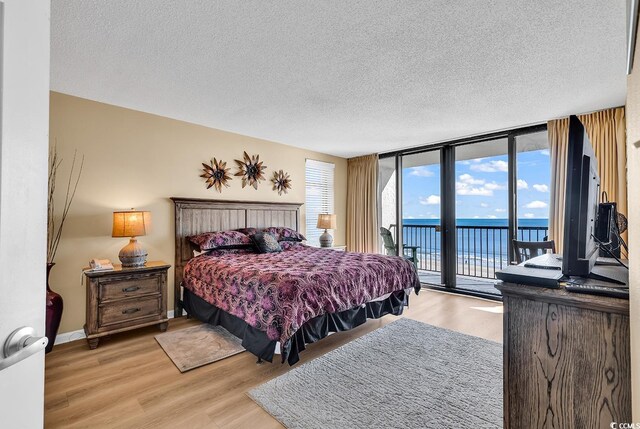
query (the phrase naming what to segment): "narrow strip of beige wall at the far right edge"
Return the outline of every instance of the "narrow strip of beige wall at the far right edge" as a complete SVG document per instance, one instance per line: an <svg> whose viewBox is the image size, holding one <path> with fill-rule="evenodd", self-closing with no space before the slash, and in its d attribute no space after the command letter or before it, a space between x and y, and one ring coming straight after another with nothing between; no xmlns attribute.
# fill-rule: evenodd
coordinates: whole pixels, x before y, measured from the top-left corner
<svg viewBox="0 0 640 429"><path fill-rule="evenodd" d="M629 287L631 305L631 377L633 420L640 421L640 43L627 78L627 182L629 187ZM637 191L636 191L637 192Z"/></svg>

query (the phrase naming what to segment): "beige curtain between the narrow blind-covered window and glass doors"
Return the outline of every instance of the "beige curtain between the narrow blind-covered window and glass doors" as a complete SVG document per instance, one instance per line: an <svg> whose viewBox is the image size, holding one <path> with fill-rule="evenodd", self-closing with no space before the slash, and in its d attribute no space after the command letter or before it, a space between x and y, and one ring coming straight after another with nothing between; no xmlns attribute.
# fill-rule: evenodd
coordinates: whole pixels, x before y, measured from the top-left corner
<svg viewBox="0 0 640 429"><path fill-rule="evenodd" d="M378 252L378 155L347 161L347 250Z"/></svg>

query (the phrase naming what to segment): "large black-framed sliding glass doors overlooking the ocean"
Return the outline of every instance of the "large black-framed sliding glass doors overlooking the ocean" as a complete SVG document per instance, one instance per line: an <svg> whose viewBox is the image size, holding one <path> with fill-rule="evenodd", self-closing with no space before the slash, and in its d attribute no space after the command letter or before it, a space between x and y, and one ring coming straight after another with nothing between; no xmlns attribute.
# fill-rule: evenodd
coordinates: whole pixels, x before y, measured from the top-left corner
<svg viewBox="0 0 640 429"><path fill-rule="evenodd" d="M416 249L423 283L497 295L512 239L548 235L545 124L382 154L379 165L382 225L402 225L396 244Z"/></svg>

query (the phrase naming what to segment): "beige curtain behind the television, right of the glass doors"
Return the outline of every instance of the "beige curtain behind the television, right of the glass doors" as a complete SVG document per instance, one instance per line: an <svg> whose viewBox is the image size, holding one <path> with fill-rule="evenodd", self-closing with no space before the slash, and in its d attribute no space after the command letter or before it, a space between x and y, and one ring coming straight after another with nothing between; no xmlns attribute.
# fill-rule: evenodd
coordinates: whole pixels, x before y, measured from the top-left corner
<svg viewBox="0 0 640 429"><path fill-rule="evenodd" d="M627 152L624 107L578 115L583 123L598 160L600 191L609 201L618 204L618 211L627 214ZM549 121L549 151L551 155L551 201L549 204L549 238L562 252L564 202L566 187L569 120ZM627 241L627 233L623 234Z"/></svg>

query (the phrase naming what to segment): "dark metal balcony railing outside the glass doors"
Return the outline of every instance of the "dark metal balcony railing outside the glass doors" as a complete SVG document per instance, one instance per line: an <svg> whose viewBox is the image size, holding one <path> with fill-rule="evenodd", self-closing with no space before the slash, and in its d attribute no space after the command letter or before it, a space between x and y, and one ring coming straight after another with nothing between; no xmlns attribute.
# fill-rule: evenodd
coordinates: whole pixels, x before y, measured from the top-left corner
<svg viewBox="0 0 640 429"><path fill-rule="evenodd" d="M393 227L393 225L392 225ZM403 225L406 246L418 246L418 269L440 271L440 226ZM456 226L457 267L463 276L494 279L495 273L508 265L508 237L506 226ZM542 241L548 227L518 227L518 240Z"/></svg>

